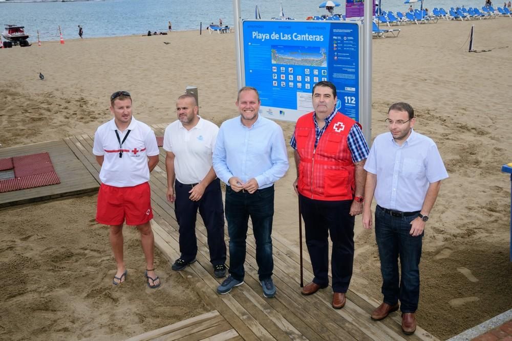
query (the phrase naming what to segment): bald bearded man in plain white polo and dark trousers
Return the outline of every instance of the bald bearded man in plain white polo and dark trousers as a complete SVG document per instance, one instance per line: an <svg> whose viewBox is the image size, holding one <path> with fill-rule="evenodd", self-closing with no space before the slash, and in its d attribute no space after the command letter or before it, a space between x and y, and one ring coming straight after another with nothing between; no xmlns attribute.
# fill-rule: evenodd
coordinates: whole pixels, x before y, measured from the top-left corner
<svg viewBox="0 0 512 341"><path fill-rule="evenodd" d="M180 233L180 253L172 266L183 270L196 261L196 216L206 226L210 262L216 277L226 276L224 209L220 180L212 168L212 152L219 127L198 115L194 96L182 95L176 102L178 120L165 129L167 151L167 199L174 202Z"/></svg>

